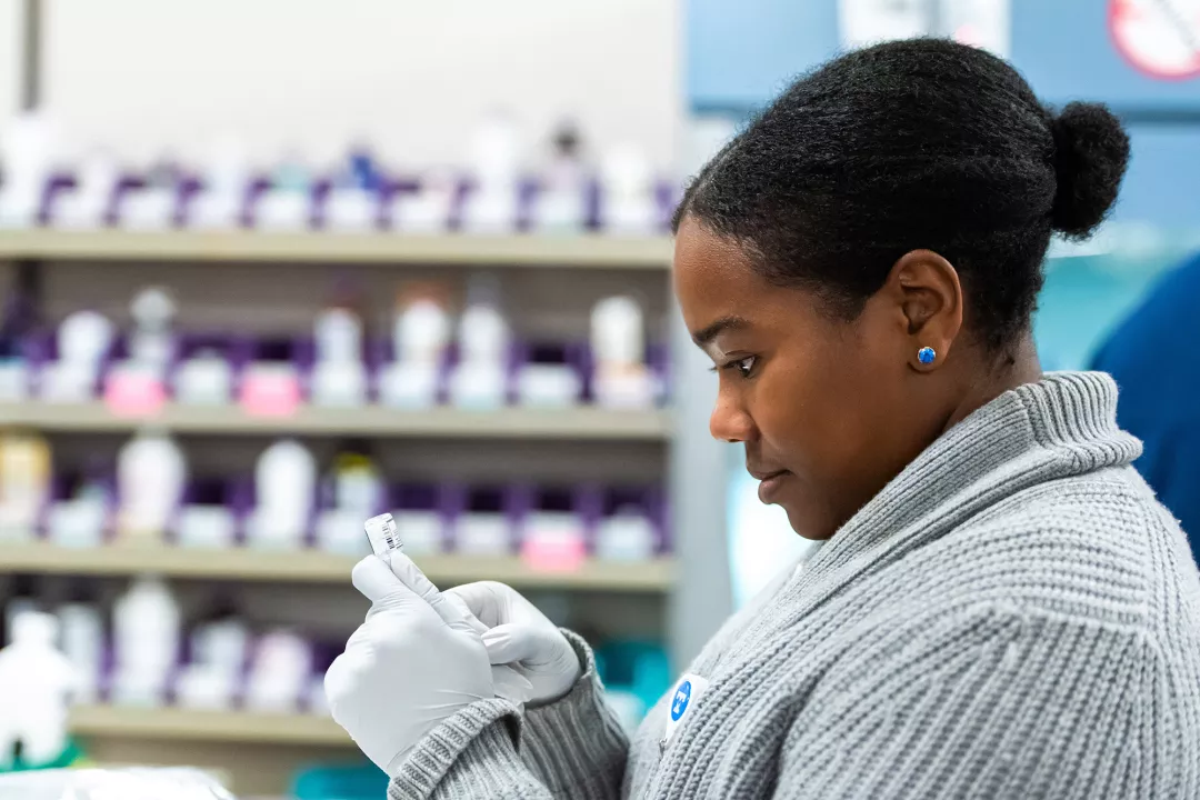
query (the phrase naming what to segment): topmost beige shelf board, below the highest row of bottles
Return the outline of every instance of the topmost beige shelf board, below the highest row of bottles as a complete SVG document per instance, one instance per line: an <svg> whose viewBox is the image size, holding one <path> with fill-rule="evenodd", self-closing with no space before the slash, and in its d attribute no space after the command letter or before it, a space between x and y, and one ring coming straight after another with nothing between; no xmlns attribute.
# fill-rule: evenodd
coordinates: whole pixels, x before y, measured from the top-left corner
<svg viewBox="0 0 1200 800"><path fill-rule="evenodd" d="M0 259L487 264L665 270L666 236L0 230Z"/></svg>

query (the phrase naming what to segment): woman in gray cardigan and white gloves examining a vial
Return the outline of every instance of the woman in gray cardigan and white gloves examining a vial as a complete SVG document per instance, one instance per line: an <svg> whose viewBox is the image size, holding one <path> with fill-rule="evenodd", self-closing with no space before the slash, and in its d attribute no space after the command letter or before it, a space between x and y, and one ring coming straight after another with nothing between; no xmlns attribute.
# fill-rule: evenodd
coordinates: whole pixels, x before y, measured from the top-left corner
<svg viewBox="0 0 1200 800"><path fill-rule="evenodd" d="M1200 796L1195 564L1112 381L1043 375L1030 332L1051 231L1103 219L1128 152L1103 107L1054 115L950 42L792 85L689 188L674 285L713 435L828 543L631 742L517 593L365 560L326 688L391 795Z"/></svg>

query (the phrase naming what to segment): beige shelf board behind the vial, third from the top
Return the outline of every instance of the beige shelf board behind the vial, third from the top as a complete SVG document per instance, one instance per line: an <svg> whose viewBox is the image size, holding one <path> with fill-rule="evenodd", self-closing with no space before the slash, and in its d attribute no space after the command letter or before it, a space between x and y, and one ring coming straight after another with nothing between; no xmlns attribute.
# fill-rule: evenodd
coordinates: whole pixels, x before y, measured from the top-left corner
<svg viewBox="0 0 1200 800"><path fill-rule="evenodd" d="M356 560L318 551L208 551L122 545L76 549L47 542L0 543L0 571L8 573L155 573L169 578L349 585L350 569ZM523 588L664 593L672 587L674 578L674 561L671 559L634 563L588 560L572 571L535 570L516 557L421 555L414 560L431 581L444 585L500 581Z"/></svg>

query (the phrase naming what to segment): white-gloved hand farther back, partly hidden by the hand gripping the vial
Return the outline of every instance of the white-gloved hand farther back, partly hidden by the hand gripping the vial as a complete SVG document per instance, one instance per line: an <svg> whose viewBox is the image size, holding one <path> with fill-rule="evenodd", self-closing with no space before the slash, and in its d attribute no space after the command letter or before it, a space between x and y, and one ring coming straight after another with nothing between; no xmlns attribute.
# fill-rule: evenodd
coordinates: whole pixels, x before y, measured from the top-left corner
<svg viewBox="0 0 1200 800"><path fill-rule="evenodd" d="M446 589L488 630L484 645L493 664L511 664L533 684L534 703L551 703L571 691L582 674L580 657L562 631L511 587L494 581Z"/></svg>

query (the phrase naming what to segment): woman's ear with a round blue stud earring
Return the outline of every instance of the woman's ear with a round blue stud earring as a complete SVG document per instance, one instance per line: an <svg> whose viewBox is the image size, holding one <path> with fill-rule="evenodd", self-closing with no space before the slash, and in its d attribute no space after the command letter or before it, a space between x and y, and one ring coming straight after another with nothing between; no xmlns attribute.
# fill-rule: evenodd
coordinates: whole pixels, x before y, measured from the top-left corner
<svg viewBox="0 0 1200 800"><path fill-rule="evenodd" d="M914 249L892 266L884 290L896 300L907 325L910 366L930 372L946 363L962 330L962 283L958 270L932 251ZM932 360L922 361L918 356L925 348L932 349Z"/></svg>

